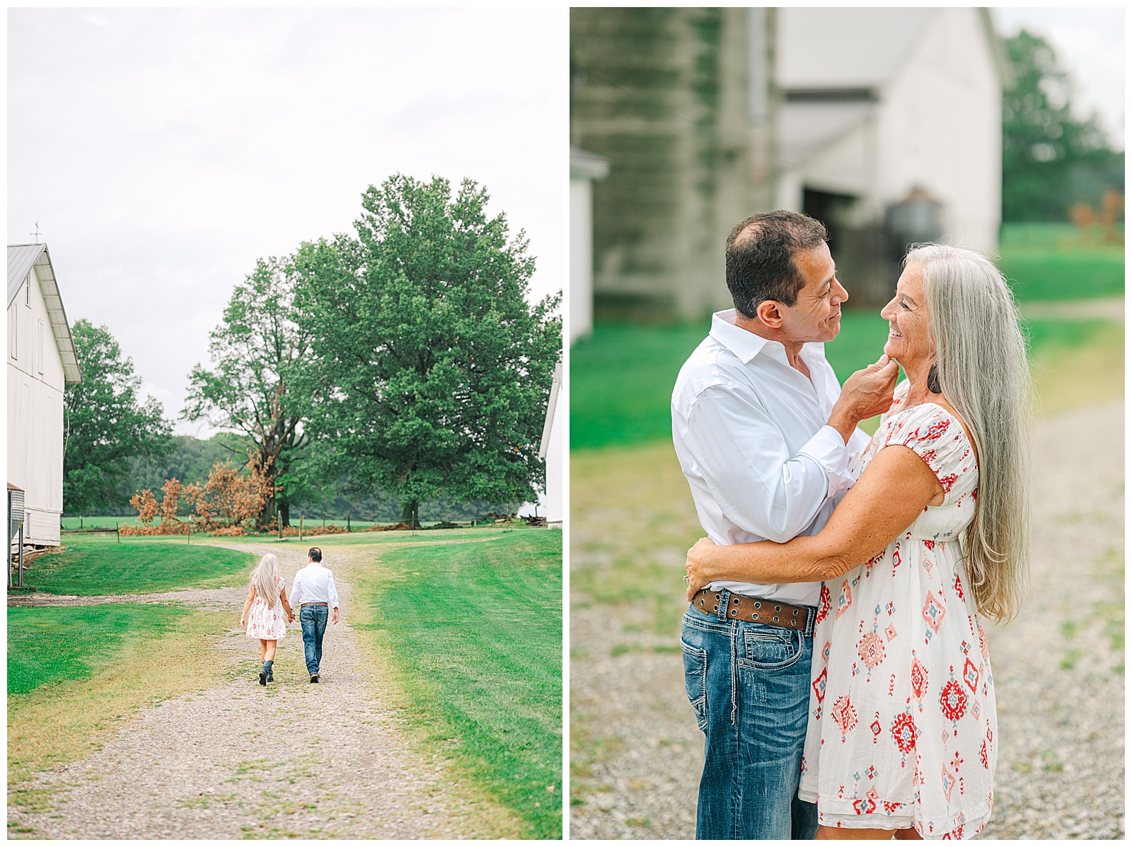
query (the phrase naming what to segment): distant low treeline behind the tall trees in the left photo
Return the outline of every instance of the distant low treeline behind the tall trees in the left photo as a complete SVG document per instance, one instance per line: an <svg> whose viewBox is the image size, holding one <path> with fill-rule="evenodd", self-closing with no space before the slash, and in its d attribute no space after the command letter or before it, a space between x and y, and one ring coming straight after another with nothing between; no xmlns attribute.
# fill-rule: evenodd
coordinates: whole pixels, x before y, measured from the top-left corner
<svg viewBox="0 0 1132 847"><path fill-rule="evenodd" d="M247 463L250 439L232 433L217 433L211 438L194 438L191 435L173 437L174 447L164 459L130 460L129 481L119 487L125 497L131 497L137 491L148 488L161 498L161 487L166 479L179 479L181 482L203 485L208 479L208 471L217 462L230 461L235 467ZM321 521L344 521L349 513L351 521L376 523L395 523L401 516L401 505L392 497L350 496L344 493L348 480L333 480L325 488L320 502L293 504L291 522L298 523L299 515L305 515L308 523ZM422 503L418 520L431 523L434 521L464 522L483 517L489 512L515 512L518 503ZM137 515L132 506L119 510L101 510L89 513L94 515Z"/></svg>

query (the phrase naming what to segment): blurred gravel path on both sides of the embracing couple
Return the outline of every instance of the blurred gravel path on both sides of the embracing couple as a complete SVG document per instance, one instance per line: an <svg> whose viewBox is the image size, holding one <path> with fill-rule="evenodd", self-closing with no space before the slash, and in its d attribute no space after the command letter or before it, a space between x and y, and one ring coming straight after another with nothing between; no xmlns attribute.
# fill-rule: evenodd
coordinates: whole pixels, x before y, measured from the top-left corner
<svg viewBox="0 0 1132 847"><path fill-rule="evenodd" d="M983 837L1124 837L1123 436L1123 402L1038 427L1034 597L1020 619L987 633L1003 746ZM573 566L607 555L599 538L575 522ZM678 587L683 555L650 555ZM695 835L703 734L684 695L677 636L648 622L640 604L572 604L572 759L581 764L571 838Z"/></svg>

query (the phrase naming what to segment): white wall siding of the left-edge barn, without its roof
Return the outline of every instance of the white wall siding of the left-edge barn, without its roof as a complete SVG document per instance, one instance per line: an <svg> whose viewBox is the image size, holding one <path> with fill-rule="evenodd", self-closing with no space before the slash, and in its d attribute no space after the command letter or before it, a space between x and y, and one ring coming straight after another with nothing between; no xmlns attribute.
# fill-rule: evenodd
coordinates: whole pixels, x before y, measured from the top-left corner
<svg viewBox="0 0 1132 847"><path fill-rule="evenodd" d="M63 366L34 268L28 282L29 290L8 307L9 333L16 330L16 357L11 345L8 351L8 481L24 489L25 539L57 545L63 507Z"/></svg>

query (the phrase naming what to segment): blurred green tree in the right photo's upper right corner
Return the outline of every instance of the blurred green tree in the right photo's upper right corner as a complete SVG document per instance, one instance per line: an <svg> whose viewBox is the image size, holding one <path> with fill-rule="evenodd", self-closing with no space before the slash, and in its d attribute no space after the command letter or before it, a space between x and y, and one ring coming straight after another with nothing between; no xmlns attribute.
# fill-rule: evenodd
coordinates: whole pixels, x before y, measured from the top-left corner
<svg viewBox="0 0 1132 847"><path fill-rule="evenodd" d="M1054 49L1026 29L1005 46L1015 83L1003 95L1003 220L1064 221L1071 204L1097 203L1109 185L1123 189L1123 154L1109 149L1095 117L1073 117Z"/></svg>

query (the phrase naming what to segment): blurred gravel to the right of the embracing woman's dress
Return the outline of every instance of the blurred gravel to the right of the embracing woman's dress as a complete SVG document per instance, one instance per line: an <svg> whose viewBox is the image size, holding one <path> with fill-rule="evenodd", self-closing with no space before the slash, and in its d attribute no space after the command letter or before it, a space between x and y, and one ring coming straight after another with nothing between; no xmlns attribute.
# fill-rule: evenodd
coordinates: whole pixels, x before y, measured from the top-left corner
<svg viewBox="0 0 1132 847"><path fill-rule="evenodd" d="M1046 421L1035 450L1034 597L987 630L1002 747L984 837L1124 838L1123 403Z"/></svg>

